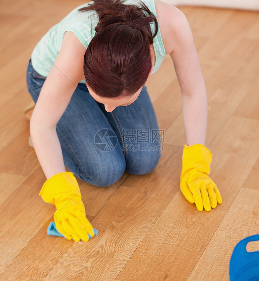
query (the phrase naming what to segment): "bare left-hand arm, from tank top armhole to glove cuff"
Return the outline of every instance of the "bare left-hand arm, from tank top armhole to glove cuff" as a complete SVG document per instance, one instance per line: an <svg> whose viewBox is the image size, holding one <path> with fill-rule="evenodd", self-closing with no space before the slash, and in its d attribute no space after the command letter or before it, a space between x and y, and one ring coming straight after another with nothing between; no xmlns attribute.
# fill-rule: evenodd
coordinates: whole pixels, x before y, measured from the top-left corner
<svg viewBox="0 0 259 281"><path fill-rule="evenodd" d="M86 49L76 35L67 31L60 52L43 84L30 121L30 134L46 178L65 172L56 125L83 77ZM68 80L69 79L69 80Z"/></svg>

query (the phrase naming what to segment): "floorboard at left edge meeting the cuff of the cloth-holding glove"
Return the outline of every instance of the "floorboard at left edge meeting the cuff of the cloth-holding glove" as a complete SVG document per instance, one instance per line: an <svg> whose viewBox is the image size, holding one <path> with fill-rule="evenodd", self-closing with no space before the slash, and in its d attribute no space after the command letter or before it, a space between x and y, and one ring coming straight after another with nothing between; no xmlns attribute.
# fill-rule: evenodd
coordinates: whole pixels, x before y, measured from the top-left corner
<svg viewBox="0 0 259 281"><path fill-rule="evenodd" d="M42 223L53 216L54 207L50 210L39 197L39 189L35 188L43 180L38 168L0 205L0 273L42 228ZM48 211L47 215L44 210Z"/></svg>

